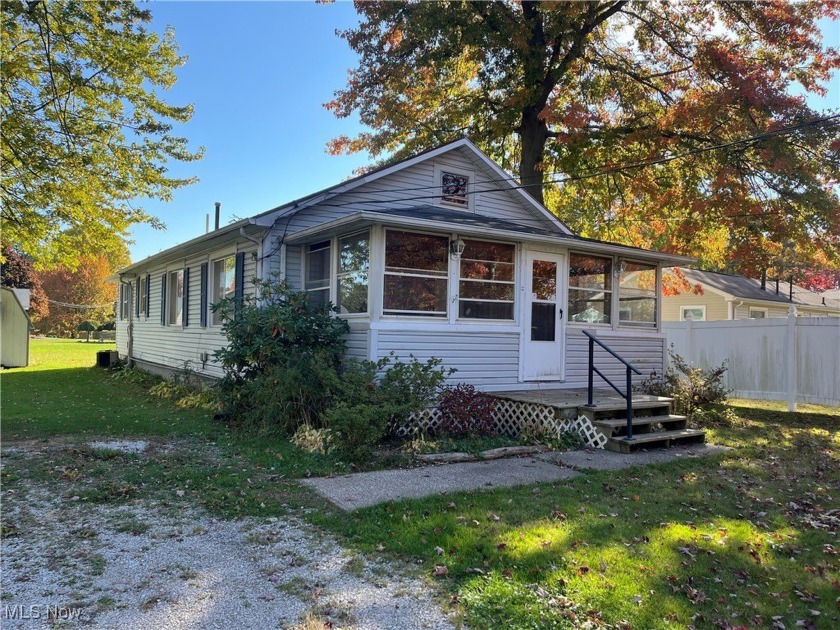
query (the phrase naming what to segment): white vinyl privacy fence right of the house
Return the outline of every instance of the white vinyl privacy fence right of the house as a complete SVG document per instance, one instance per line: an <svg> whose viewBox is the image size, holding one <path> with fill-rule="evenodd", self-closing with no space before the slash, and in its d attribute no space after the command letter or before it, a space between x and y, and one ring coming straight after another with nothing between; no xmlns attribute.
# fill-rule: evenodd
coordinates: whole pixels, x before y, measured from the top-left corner
<svg viewBox="0 0 840 630"><path fill-rule="evenodd" d="M840 318L663 322L674 351L697 367L726 361L739 398L840 406Z"/></svg>

